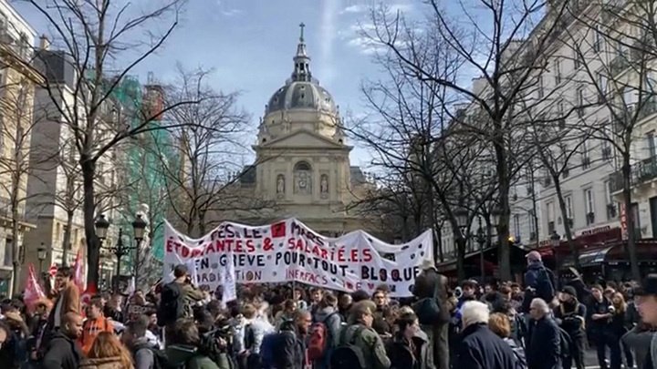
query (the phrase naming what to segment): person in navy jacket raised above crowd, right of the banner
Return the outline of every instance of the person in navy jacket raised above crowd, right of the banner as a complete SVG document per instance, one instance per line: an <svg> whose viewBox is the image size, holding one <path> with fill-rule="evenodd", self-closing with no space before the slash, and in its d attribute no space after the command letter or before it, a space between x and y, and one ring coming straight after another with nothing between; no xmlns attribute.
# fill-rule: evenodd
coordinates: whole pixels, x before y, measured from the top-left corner
<svg viewBox="0 0 657 369"><path fill-rule="evenodd" d="M527 253L527 272L525 273L525 298L523 312L529 312L529 304L534 298L543 299L548 305L555 300L557 280L554 272L543 265L538 251Z"/></svg>

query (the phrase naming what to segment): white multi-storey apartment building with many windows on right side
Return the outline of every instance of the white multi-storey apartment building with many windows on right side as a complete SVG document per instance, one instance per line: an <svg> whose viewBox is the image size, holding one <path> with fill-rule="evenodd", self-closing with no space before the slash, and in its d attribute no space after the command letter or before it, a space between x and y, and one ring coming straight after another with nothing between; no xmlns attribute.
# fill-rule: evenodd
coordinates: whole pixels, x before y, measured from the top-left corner
<svg viewBox="0 0 657 369"><path fill-rule="evenodd" d="M652 159L657 152L654 56L650 51L641 51L645 44L637 45L645 39L647 30L638 28L636 22L630 25L625 21L642 16L633 2L574 2L568 6L571 8L562 15L557 36L548 48L546 68L537 75L535 92L537 98L546 97L546 110L562 132L549 150L561 151L561 158L568 161L558 163L562 169L559 186L544 163L537 163L531 173L534 180L528 180L535 190L533 198L527 180L518 181L512 192L512 200L516 201L511 229L527 246L538 247L547 255L554 251L554 238L559 236L558 263L568 266L573 263L565 241L568 224L582 266L604 266L609 253L615 254L612 264L621 268L628 265L628 260L622 249L627 230L620 221L625 210L621 206L622 161L617 148L628 139L634 232L646 255L654 246L647 239L657 234L653 231L657 221L652 221L657 219L657 190L652 185L657 176ZM575 14L586 14L589 22L584 24L584 19ZM639 64L643 67L637 67ZM625 135L630 129L631 135ZM529 221L534 213L526 210L528 200L535 203L538 227ZM535 229L537 237L533 237ZM528 243L525 235L530 236ZM640 264L654 269L652 259L640 257ZM619 272L617 276L624 278L625 274Z"/></svg>

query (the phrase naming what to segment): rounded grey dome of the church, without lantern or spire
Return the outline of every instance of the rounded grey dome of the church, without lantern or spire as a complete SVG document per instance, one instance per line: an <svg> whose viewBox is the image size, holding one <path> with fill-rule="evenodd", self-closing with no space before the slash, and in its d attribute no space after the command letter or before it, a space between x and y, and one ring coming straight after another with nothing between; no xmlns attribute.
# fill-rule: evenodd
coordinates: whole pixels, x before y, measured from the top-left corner
<svg viewBox="0 0 657 369"><path fill-rule="evenodd" d="M333 97L315 81L289 81L269 99L265 114L277 110L314 109L336 114Z"/></svg>

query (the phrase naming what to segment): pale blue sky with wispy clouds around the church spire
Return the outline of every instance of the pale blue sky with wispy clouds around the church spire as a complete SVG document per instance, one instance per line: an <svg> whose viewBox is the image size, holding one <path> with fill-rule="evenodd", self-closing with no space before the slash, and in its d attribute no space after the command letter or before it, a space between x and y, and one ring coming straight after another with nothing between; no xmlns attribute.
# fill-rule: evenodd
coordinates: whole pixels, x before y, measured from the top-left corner
<svg viewBox="0 0 657 369"><path fill-rule="evenodd" d="M133 3L141 1L154 0ZM419 12L422 5L412 0L385 3L407 14ZM47 34L47 23L29 5L12 4L37 34ZM214 88L240 92L239 104L251 115L255 134L266 102L292 72L298 25L303 22L314 77L328 88L341 112L358 115L365 110L361 82L377 78L377 68L371 63L375 47L359 32L367 26L373 4L365 0L188 0L171 38L132 74L145 82L152 72L166 83L175 78L179 62L186 68L212 68ZM369 160L362 148L351 154L352 165L367 166Z"/></svg>

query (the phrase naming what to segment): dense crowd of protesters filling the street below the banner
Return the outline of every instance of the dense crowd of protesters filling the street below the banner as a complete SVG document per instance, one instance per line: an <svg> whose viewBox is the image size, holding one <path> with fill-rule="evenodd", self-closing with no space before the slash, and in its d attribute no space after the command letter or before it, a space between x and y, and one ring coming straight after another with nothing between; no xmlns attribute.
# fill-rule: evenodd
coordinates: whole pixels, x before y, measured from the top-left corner
<svg viewBox="0 0 657 369"><path fill-rule="evenodd" d="M637 283L579 276L560 286L540 255L524 283L450 286L422 265L412 298L297 284L240 286L221 302L184 265L144 294L100 294L80 306L71 271L31 309L0 309L0 367L46 369L583 369L657 368L657 275Z"/></svg>

